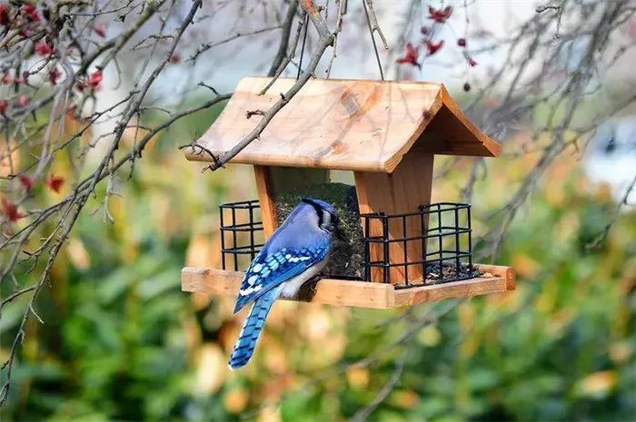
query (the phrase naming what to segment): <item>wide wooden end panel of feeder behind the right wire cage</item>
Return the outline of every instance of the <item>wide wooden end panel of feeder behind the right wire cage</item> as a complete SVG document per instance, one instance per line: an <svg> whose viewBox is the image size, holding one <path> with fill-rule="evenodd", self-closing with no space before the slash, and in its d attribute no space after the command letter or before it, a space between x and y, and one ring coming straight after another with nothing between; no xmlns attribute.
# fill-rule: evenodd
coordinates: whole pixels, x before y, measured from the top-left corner
<svg viewBox="0 0 636 422"><path fill-rule="evenodd" d="M410 153L403 157L393 173L354 172L355 185L358 190L360 212L385 212L401 214L415 212L420 205L431 203L433 155L430 153ZM371 221L371 236L382 236L381 221ZM425 219L424 227L428 227ZM363 224L363 231L365 230ZM392 219L389 224L389 239L418 238L406 241L406 260L419 261L425 256L425 242L422 242L422 221L419 217L406 218L406 232L402 227L402 219ZM423 243L423 245L422 245ZM383 244L372 243L371 260L384 260ZM389 244L390 263L404 262L404 242ZM404 267L392 267L389 279L392 284L405 280L422 280L423 265L410 265L408 274ZM373 268L371 280L383 281L383 269Z"/></svg>

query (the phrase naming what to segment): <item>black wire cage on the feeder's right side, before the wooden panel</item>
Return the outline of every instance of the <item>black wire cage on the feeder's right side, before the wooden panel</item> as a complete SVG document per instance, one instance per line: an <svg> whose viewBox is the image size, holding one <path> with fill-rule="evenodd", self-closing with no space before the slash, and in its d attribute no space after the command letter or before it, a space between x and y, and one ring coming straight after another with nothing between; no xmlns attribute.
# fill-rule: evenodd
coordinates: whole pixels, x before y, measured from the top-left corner
<svg viewBox="0 0 636 422"><path fill-rule="evenodd" d="M393 282L395 289L422 286L457 280L467 280L475 277L476 271L472 266L472 228L471 205L467 203L438 202L422 205L415 212L403 214L385 214L383 212L362 214L365 233L371 232L373 223L382 225L382 234L367 236L364 239L364 278L371 280L374 269L381 270L383 282ZM396 230L390 231L396 225L402 226L402 233L407 232L407 225L418 224L420 235L395 237ZM391 234L390 234L391 233ZM402 256L390 255L390 243L402 244ZM421 242L422 255L409 260L407 250L409 243ZM373 244L383 246L381 260L371 260ZM391 280L393 267L402 267L403 274L409 273L409 267L422 266L422 280Z"/></svg>

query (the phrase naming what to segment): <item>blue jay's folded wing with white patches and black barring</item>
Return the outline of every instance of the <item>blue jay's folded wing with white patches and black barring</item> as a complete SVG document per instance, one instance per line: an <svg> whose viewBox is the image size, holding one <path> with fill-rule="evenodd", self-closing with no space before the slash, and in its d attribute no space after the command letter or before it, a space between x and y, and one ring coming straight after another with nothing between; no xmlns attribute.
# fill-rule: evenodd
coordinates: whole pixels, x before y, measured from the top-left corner
<svg viewBox="0 0 636 422"><path fill-rule="evenodd" d="M245 271L234 313L284 281L322 261L328 251L328 244L313 248L283 248L271 254L261 250Z"/></svg>

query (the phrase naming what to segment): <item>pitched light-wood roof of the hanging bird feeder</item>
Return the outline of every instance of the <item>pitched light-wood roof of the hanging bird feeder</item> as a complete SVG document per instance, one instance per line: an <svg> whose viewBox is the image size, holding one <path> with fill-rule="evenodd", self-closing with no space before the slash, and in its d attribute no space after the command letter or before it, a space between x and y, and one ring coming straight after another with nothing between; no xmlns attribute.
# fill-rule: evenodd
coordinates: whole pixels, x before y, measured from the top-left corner
<svg viewBox="0 0 636 422"><path fill-rule="evenodd" d="M223 156L295 83L243 78L223 113L198 140ZM495 157L499 143L479 131L441 83L311 79L232 162L362 172L393 172L405 153ZM189 160L210 161L188 150Z"/></svg>

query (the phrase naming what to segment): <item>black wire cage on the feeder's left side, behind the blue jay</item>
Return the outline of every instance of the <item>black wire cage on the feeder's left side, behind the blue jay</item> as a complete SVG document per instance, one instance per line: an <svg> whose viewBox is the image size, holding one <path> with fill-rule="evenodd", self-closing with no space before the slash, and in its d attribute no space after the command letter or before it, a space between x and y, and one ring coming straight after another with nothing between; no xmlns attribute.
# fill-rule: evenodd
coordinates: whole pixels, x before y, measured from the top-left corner
<svg viewBox="0 0 636 422"><path fill-rule="evenodd" d="M219 205L223 269L245 270L264 244L258 200Z"/></svg>

